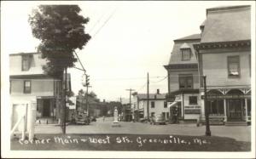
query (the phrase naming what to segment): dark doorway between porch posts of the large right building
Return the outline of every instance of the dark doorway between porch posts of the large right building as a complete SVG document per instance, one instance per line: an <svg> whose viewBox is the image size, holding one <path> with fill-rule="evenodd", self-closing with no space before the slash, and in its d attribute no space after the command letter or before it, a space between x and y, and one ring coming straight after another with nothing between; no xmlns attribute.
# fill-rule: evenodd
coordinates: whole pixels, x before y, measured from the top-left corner
<svg viewBox="0 0 256 159"><path fill-rule="evenodd" d="M242 108L241 99L231 99L229 101L230 121L241 121L242 119L241 108Z"/></svg>

